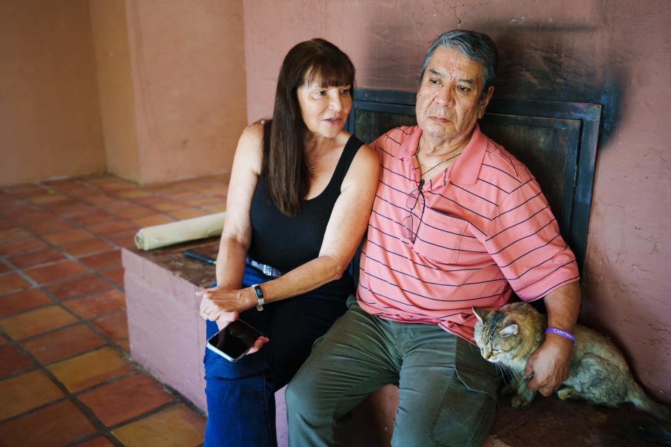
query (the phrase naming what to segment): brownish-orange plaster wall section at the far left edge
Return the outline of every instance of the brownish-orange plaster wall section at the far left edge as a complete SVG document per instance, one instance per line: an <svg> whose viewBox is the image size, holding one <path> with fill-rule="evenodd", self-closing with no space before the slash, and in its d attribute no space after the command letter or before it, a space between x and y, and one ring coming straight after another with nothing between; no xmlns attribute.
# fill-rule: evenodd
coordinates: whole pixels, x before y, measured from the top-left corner
<svg viewBox="0 0 671 447"><path fill-rule="evenodd" d="M102 172L88 0L0 0L0 185Z"/></svg>

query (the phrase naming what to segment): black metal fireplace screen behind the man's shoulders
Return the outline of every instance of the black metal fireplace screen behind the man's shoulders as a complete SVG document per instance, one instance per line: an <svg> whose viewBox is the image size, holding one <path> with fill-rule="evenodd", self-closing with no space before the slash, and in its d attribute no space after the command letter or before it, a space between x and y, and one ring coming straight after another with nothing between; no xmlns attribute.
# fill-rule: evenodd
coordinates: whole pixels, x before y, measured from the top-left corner
<svg viewBox="0 0 671 447"><path fill-rule="evenodd" d="M411 91L357 89L347 130L370 142L416 124ZM492 98L480 129L531 170L582 267L601 105Z"/></svg>

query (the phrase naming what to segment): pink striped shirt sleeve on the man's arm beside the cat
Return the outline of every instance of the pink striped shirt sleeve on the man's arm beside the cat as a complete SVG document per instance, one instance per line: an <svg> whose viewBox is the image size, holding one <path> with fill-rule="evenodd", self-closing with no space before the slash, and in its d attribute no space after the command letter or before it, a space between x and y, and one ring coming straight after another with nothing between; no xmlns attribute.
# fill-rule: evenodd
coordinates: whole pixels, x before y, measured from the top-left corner
<svg viewBox="0 0 671 447"><path fill-rule="evenodd" d="M484 245L522 300L543 298L579 279L575 256L533 178L500 203Z"/></svg>

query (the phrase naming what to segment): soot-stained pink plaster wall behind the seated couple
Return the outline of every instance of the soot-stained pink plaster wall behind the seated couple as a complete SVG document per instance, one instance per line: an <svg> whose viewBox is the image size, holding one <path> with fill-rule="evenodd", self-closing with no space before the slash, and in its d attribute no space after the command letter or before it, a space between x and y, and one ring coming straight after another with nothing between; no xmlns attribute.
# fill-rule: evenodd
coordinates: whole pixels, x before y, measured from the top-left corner
<svg viewBox="0 0 671 447"><path fill-rule="evenodd" d="M671 401L671 3L666 0L245 1L247 118L270 117L289 48L347 52L357 85L412 91L441 31L488 33L497 96L603 104L581 321Z"/></svg>

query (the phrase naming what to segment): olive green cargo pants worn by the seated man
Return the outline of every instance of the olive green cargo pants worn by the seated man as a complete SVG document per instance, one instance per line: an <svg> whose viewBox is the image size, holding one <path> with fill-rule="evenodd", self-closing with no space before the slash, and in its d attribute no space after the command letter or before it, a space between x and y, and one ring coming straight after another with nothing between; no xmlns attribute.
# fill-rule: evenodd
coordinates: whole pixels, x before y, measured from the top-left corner
<svg viewBox="0 0 671 447"><path fill-rule="evenodd" d="M347 445L343 416L387 383L400 390L392 446L481 446L496 413L494 365L436 325L348 305L289 383L289 446Z"/></svg>

